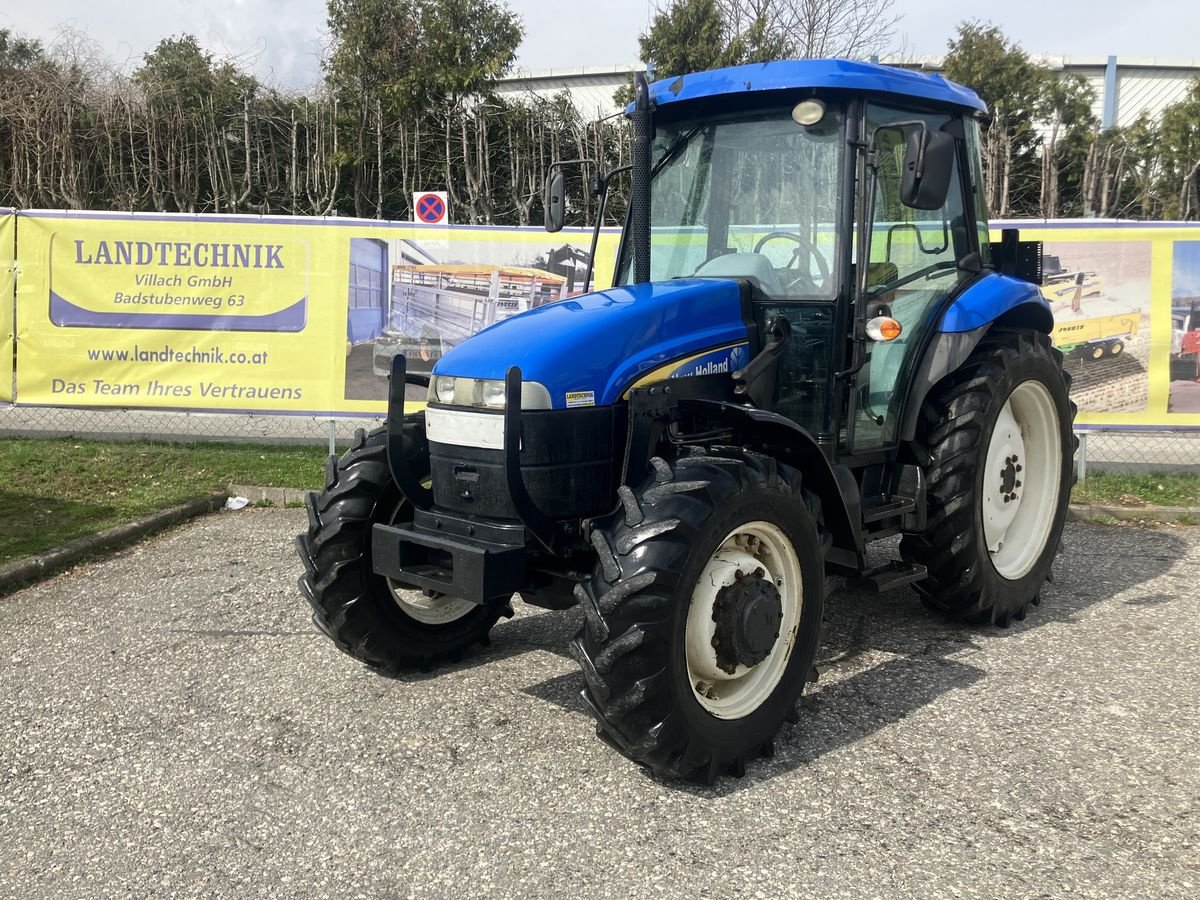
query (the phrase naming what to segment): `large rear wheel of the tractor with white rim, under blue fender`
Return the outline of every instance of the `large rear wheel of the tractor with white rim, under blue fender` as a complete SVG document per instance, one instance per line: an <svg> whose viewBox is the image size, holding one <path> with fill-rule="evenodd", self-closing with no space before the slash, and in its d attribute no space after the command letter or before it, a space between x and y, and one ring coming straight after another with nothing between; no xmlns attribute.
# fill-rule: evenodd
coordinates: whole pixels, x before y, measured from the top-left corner
<svg viewBox="0 0 1200 900"><path fill-rule="evenodd" d="M926 605L1007 626L1040 602L1074 480L1069 389L1048 336L997 329L926 400L929 523L900 542Z"/></svg>

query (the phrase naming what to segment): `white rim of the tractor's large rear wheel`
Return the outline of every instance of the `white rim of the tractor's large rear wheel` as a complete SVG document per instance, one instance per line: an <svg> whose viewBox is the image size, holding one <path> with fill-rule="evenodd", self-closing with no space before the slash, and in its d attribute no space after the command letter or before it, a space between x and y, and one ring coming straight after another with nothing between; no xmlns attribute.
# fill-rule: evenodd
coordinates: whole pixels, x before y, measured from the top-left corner
<svg viewBox="0 0 1200 900"><path fill-rule="evenodd" d="M1033 569L1062 490L1062 434L1054 397L1022 382L996 419L983 472L983 534L992 568L1016 581Z"/></svg>

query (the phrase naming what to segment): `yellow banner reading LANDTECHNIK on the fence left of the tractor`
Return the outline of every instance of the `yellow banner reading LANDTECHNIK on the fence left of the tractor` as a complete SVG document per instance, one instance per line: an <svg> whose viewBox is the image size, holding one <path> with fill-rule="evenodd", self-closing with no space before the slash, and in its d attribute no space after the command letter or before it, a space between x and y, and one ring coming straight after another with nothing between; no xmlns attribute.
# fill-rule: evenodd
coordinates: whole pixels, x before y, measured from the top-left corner
<svg viewBox="0 0 1200 900"><path fill-rule="evenodd" d="M582 293L590 239L54 211L18 227L18 403L308 415L379 414L397 353L428 372L481 328ZM598 284L614 250L606 234Z"/></svg>

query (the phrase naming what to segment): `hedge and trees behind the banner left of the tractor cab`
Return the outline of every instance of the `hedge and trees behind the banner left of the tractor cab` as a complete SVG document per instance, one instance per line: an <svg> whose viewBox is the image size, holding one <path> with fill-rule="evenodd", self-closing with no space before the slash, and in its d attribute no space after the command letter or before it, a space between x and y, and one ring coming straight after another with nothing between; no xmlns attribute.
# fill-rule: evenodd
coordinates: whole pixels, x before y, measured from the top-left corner
<svg viewBox="0 0 1200 900"><path fill-rule="evenodd" d="M497 0L330 0L329 26L307 96L188 35L121 72L0 30L0 205L406 220L414 191L445 190L456 222L529 224L553 160L624 162L622 125L566 95L496 96L522 34Z"/></svg>

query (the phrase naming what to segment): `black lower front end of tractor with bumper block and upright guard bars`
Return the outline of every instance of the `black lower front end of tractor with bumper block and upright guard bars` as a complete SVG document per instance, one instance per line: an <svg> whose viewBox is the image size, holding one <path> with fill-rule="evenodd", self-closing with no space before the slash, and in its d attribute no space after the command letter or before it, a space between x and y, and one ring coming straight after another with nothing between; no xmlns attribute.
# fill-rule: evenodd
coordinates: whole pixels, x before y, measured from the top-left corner
<svg viewBox="0 0 1200 900"><path fill-rule="evenodd" d="M398 355L389 386L388 464L413 521L372 528L373 571L478 604L529 588L530 554L560 556L577 541L581 517L612 505L612 410L523 415L521 370L514 366L504 379L504 410L487 414L503 424L496 430L500 446L437 444L428 440L424 413L404 416L408 378ZM422 454L432 490L413 466Z"/></svg>

